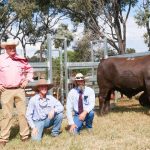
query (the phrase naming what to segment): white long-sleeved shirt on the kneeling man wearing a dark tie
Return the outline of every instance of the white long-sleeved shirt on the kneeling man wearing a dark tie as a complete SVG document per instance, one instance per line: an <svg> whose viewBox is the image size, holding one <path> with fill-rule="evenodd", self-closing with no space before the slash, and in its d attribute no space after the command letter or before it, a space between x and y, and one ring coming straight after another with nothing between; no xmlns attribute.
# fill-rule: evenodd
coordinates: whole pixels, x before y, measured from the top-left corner
<svg viewBox="0 0 150 150"><path fill-rule="evenodd" d="M85 86L83 95L83 110L88 113L94 109L95 106L95 92L92 88ZM72 111L78 112L79 90L73 88L69 91L66 104L66 113L69 125L74 124Z"/></svg>

